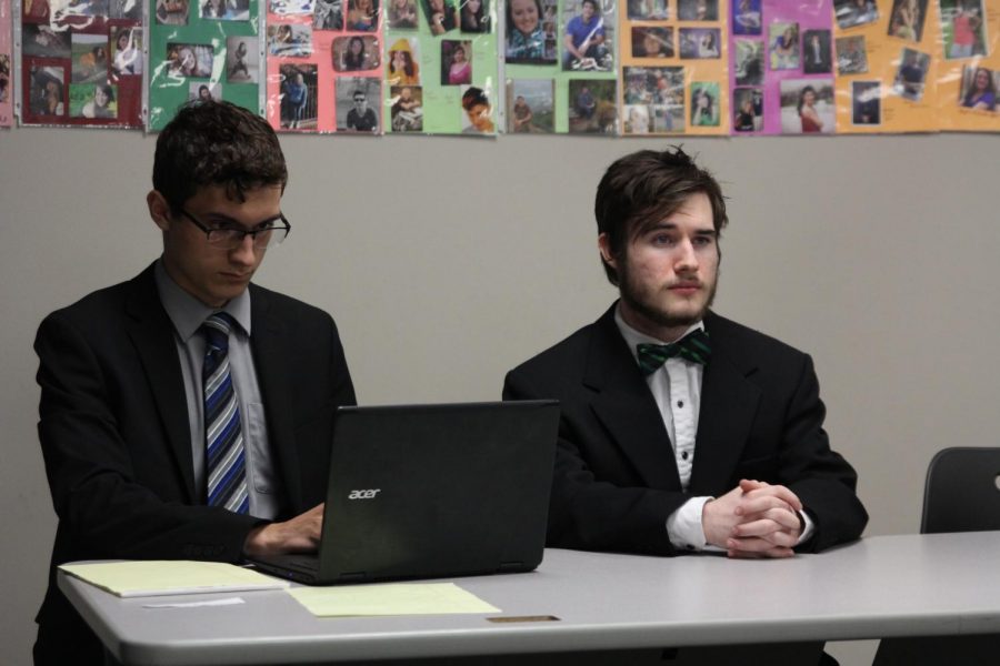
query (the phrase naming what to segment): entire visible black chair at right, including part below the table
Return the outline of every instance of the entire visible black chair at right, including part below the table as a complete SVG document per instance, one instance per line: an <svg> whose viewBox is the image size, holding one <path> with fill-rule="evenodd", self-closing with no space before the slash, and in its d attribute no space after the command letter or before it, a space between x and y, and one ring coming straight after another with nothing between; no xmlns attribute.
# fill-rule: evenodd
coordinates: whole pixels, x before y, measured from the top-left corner
<svg viewBox="0 0 1000 666"><path fill-rule="evenodd" d="M956 446L931 460L923 487L921 534L1000 529L1000 447ZM888 638L874 666L997 664L1000 634Z"/></svg>

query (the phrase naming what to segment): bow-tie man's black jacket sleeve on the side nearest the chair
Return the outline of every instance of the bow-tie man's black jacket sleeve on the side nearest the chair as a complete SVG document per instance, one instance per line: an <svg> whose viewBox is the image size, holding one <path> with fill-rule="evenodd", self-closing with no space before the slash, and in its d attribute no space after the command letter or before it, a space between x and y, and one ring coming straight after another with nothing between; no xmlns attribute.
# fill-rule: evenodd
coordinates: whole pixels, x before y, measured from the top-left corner
<svg viewBox="0 0 1000 666"><path fill-rule="evenodd" d="M861 536L868 513L856 494L858 474L831 451L823 430L826 407L812 360L806 355L784 421L780 480L798 495L816 524L798 551L819 552Z"/></svg>

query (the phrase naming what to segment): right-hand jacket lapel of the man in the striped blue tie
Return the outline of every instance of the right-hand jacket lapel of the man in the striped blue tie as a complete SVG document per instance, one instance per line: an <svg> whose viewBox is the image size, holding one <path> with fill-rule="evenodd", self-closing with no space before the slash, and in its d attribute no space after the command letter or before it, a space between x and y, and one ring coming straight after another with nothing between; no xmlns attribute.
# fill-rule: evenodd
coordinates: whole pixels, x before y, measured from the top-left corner
<svg viewBox="0 0 1000 666"><path fill-rule="evenodd" d="M264 291L251 284L250 299L250 349L268 420L268 443L271 455L279 463L278 472L289 507L298 513L302 508L302 488L292 422L293 382L284 354L284 345L290 337L284 332L286 322L270 311Z"/></svg>

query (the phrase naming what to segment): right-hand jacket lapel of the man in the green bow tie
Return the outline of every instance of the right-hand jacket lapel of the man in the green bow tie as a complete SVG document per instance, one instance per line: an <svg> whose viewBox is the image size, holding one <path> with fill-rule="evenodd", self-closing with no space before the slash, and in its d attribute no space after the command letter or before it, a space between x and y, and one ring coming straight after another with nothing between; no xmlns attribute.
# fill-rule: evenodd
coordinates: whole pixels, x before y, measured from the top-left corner
<svg viewBox="0 0 1000 666"><path fill-rule="evenodd" d="M732 490L727 486L760 400L760 390L747 380L756 369L740 367L734 362L724 321L708 313L704 325L712 341L712 360L701 382L694 466L688 485L692 495L717 495Z"/></svg>

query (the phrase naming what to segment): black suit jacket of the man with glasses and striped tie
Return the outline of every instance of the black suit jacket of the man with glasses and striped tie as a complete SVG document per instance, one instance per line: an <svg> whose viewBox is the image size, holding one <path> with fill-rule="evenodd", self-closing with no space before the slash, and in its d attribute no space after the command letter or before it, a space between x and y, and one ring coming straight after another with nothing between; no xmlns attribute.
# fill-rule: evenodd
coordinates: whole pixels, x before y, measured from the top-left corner
<svg viewBox="0 0 1000 666"><path fill-rule="evenodd" d="M327 313L250 285L253 363L268 440L282 480L279 519L326 497L333 412L354 390ZM191 435L173 325L152 266L50 314L34 349L39 437L59 517L49 589L39 612L39 657L76 636L96 638L56 587L74 559L238 562L261 521L204 505L194 487ZM98 653L99 654L99 653ZM80 654L63 663L84 663Z"/></svg>

